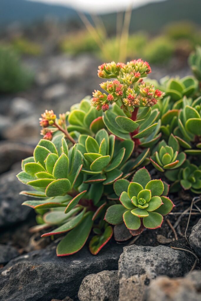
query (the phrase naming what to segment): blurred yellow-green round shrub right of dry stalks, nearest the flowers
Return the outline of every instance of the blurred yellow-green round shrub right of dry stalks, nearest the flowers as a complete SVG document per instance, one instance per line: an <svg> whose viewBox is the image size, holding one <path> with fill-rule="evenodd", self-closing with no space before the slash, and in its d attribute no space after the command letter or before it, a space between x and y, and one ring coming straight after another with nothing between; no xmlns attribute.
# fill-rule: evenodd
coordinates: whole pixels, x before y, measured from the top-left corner
<svg viewBox="0 0 201 301"><path fill-rule="evenodd" d="M163 36L156 37L143 49L143 58L152 64L167 63L174 53L174 43Z"/></svg>

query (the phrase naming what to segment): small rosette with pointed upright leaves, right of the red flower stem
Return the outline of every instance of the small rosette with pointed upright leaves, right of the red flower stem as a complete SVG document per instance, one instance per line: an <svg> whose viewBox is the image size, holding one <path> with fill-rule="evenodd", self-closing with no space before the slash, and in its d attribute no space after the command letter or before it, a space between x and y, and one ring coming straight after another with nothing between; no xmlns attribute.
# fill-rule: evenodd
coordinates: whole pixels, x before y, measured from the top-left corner
<svg viewBox="0 0 201 301"><path fill-rule="evenodd" d="M164 172L164 169L174 169L181 166L186 160L186 154L184 152L179 153L179 143L171 134L168 144L165 140L159 142L150 160L157 170Z"/></svg>

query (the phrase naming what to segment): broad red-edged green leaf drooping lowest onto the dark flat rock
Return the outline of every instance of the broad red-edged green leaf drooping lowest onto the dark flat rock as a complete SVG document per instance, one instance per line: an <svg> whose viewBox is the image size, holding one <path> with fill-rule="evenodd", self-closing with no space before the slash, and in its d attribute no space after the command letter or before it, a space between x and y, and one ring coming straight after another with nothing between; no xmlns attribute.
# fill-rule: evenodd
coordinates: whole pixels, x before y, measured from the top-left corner
<svg viewBox="0 0 201 301"><path fill-rule="evenodd" d="M87 212L82 221L60 241L57 256L72 255L84 246L93 225L92 216L92 212Z"/></svg>

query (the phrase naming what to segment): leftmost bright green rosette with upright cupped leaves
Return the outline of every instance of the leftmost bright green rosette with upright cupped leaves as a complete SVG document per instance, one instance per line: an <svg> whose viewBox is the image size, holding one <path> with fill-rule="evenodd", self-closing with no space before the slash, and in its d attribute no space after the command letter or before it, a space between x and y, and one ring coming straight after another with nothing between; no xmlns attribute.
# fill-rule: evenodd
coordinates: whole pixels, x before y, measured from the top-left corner
<svg viewBox="0 0 201 301"><path fill-rule="evenodd" d="M46 197L56 197L72 191L82 168L82 155L76 145L68 153L68 145L62 138L62 153L52 141L41 139L33 157L23 160L23 171L17 178L24 184L43 191Z"/></svg>

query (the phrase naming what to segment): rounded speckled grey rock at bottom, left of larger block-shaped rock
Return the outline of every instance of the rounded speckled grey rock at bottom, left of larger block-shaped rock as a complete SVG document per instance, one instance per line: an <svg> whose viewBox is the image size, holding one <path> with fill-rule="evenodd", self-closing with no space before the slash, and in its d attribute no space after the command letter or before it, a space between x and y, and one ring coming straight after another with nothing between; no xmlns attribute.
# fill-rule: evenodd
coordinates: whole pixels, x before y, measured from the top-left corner
<svg viewBox="0 0 201 301"><path fill-rule="evenodd" d="M116 301L118 295L118 271L102 271L86 276L78 292L80 301Z"/></svg>

